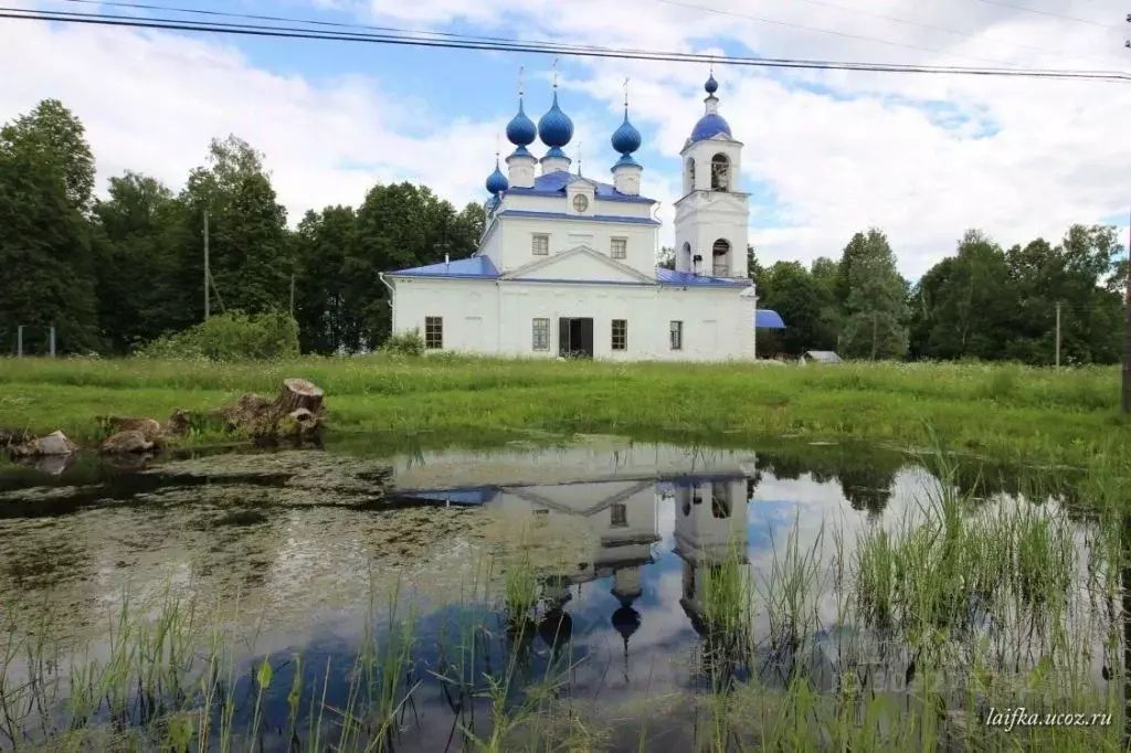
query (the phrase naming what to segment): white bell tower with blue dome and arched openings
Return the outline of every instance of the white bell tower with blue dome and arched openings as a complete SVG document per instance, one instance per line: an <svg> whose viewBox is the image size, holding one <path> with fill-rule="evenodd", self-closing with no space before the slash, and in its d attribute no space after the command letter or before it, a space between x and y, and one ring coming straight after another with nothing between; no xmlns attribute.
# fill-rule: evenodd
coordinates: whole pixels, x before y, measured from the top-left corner
<svg viewBox="0 0 1131 753"><path fill-rule="evenodd" d="M745 278L750 194L739 190L742 142L718 114L714 71L703 88L703 115L680 153L683 198L675 202L675 269Z"/></svg>

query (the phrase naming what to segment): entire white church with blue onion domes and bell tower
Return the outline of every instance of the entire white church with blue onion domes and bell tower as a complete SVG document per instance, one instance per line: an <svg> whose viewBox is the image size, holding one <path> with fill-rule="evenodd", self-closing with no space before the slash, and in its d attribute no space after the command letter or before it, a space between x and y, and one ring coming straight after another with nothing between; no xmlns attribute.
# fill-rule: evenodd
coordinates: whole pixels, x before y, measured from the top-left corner
<svg viewBox="0 0 1131 753"><path fill-rule="evenodd" d="M613 131L612 183L570 172L573 122L553 103L537 126L523 109L507 126L515 146L491 194L480 248L468 259L386 272L392 331L418 331L429 350L497 356L726 361L753 358L754 327L780 328L758 311L746 275L749 194L742 142L718 113L718 83L680 153L675 269L657 267L658 202L640 194L632 157L640 132ZM530 145L541 139L538 159Z"/></svg>

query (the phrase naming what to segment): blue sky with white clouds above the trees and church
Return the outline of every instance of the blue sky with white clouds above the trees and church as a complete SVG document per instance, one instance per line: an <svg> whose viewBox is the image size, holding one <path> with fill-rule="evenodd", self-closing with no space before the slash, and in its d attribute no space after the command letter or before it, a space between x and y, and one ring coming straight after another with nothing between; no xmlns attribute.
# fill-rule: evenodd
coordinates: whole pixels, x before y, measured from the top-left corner
<svg viewBox="0 0 1131 753"><path fill-rule="evenodd" d="M932 66L1131 70L1119 0L148 0L530 41L655 51ZM60 0L9 7L146 15ZM169 14L164 14L169 15ZM181 16L182 18L184 16ZM84 122L101 190L126 170L173 189L234 133L266 155L296 223L413 181L458 206L483 182L524 68L527 113L550 105L553 58L252 38L0 18L0 122L48 97ZM642 192L674 239L679 152L702 114L702 63L562 58L567 153L611 180L624 86L644 136ZM887 233L920 277L969 228L1003 246L1131 215L1131 83L783 71L718 64L720 113L742 141L759 260L838 258ZM509 145L502 139L503 156ZM576 167L576 162L575 162Z"/></svg>

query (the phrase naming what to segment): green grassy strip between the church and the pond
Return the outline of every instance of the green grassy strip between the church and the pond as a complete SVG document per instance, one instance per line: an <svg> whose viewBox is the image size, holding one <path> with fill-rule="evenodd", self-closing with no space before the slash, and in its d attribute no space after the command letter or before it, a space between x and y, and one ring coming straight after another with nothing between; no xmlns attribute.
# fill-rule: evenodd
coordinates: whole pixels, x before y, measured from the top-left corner
<svg viewBox="0 0 1131 753"><path fill-rule="evenodd" d="M98 415L163 419L178 407L271 395L288 376L326 390L335 433L382 432L429 444L543 430L715 444L800 435L920 447L930 425L953 450L1003 461L1083 466L1097 452L1131 456L1131 421L1119 413L1115 367L6 358L0 426L61 429L90 441Z"/></svg>

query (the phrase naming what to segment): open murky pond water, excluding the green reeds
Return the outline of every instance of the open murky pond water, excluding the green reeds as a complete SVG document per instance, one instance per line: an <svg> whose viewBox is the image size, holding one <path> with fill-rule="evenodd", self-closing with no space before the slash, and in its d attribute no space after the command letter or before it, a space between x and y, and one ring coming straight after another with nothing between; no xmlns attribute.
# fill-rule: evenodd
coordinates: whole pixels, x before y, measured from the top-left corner
<svg viewBox="0 0 1131 753"><path fill-rule="evenodd" d="M1018 494L1022 476L970 467L957 483L1001 503ZM265 701L276 730L266 747L286 750L278 732L291 657L302 655L320 675L329 670L327 702L340 706L359 643L385 629L397 596L417 646L397 750L459 750L452 730L478 701L454 703L438 678L459 664L452 626L478 614L486 628L476 660L506 666L513 647L501 638L494 597L521 559L537 574L543 605L527 670L544 675L568 656L559 693L606 722L590 725L605 733L588 745L636 750L636 737L616 732L628 718L647 720L679 746L690 734L683 699L701 684L703 581L713 564L737 545L769 582L791 545L818 552L821 562L847 547L841 556L851 560L857 533L905 518L938 486L921 464L892 452L705 450L602 438L387 458L309 450L9 468L0 474L0 606L15 625L43 625L49 615L67 656L106 657L123 604L144 612L170 595L192 599L211 624L241 637L240 667L265 657L275 667L271 687L282 690ZM1070 482L1036 487L1046 504L1073 508ZM480 599L481 591L492 596ZM813 608L821 624L836 623L831 597ZM767 612L753 618L757 637L772 633ZM827 644L805 659L820 691L832 689L838 672ZM759 652L765 658L767 649ZM746 675L774 682L766 676L774 663L758 666ZM320 682L311 675L305 684L313 692ZM238 690L251 684L250 676L236 681ZM250 712L249 703L236 710L240 718Z"/></svg>

